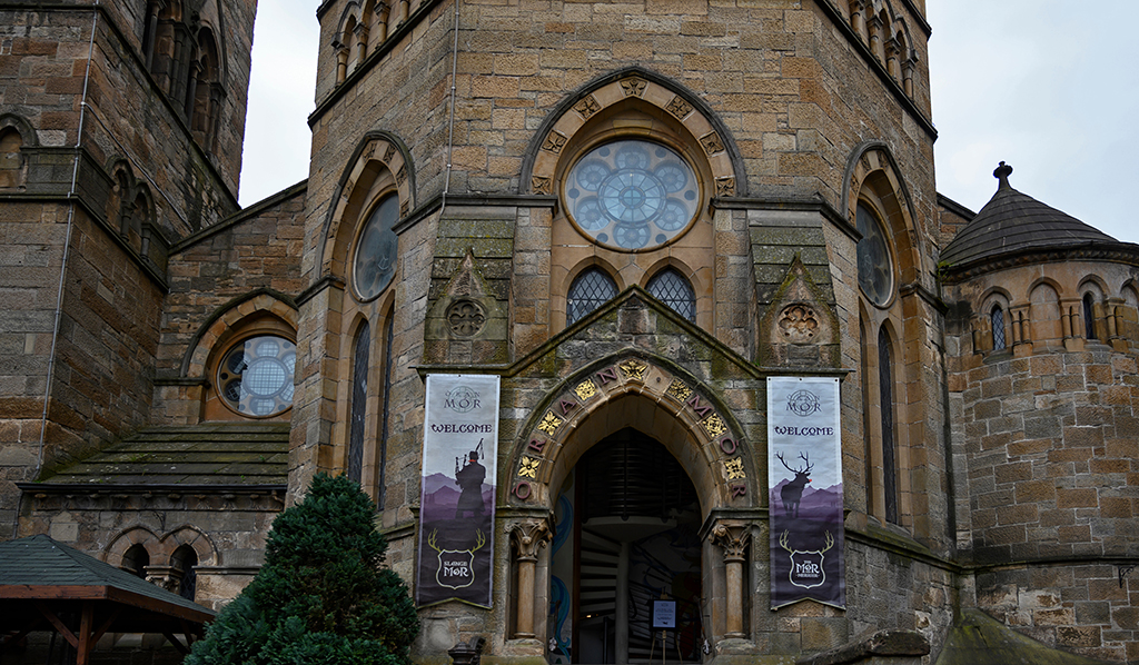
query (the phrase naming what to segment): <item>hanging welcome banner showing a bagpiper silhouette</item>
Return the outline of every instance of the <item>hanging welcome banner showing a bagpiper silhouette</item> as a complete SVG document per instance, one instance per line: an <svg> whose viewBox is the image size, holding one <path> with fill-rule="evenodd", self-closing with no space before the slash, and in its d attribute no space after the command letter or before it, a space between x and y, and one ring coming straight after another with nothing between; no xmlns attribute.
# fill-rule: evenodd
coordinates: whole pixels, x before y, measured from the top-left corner
<svg viewBox="0 0 1139 665"><path fill-rule="evenodd" d="M416 604L491 606L499 377L428 375Z"/></svg>

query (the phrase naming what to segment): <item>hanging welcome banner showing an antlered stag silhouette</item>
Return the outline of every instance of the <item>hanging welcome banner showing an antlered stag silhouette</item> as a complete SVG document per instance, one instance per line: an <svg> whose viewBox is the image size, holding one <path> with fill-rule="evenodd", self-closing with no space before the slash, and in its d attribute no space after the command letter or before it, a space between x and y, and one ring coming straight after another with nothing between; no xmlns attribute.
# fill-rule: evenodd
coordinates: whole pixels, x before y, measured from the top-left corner
<svg viewBox="0 0 1139 665"><path fill-rule="evenodd" d="M768 378L771 608L846 606L838 379Z"/></svg>

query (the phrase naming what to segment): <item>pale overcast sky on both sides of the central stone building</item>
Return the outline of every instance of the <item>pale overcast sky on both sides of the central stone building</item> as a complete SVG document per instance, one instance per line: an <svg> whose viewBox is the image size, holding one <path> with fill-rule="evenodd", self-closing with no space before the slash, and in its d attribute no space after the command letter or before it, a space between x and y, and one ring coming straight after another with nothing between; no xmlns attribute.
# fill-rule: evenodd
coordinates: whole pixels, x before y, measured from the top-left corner
<svg viewBox="0 0 1139 665"><path fill-rule="evenodd" d="M257 7L241 205L309 175L317 0ZM973 210L1013 187L1139 241L1139 2L927 0L937 191Z"/></svg>

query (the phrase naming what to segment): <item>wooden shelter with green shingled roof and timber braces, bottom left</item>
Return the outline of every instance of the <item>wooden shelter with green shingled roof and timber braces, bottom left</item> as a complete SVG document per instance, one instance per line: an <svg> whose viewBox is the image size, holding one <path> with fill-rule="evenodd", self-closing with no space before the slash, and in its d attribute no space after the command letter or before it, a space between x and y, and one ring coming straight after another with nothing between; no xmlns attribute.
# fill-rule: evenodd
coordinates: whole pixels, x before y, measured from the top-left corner
<svg viewBox="0 0 1139 665"><path fill-rule="evenodd" d="M0 543L0 652L55 631L90 663L107 632L161 633L182 652L214 613L83 552L36 535ZM178 635L181 635L179 639Z"/></svg>

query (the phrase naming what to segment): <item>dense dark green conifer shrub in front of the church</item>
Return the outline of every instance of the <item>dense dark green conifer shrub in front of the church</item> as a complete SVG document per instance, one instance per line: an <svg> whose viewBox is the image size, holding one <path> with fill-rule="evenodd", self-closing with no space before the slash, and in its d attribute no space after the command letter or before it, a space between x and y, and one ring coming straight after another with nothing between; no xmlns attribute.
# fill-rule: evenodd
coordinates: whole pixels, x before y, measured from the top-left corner
<svg viewBox="0 0 1139 665"><path fill-rule="evenodd" d="M403 581L380 568L387 541L374 512L352 481L317 475L273 520L264 566L187 665L410 665L419 619Z"/></svg>

